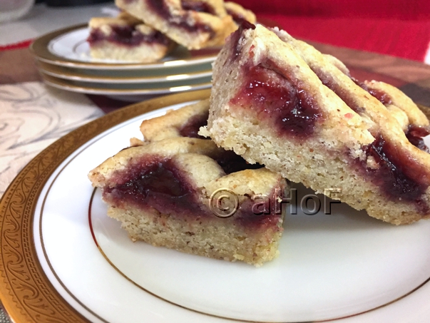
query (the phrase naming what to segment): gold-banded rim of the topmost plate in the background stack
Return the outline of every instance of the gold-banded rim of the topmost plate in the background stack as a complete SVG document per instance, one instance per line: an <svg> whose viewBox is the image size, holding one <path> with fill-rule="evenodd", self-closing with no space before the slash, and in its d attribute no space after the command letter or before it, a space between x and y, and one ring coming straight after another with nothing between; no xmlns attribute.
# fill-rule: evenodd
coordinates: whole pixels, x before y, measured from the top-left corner
<svg viewBox="0 0 430 323"><path fill-rule="evenodd" d="M45 63L51 63L53 65L58 66L67 66L67 67L76 67L76 68L88 68L88 69L154 69L154 68L175 68L178 66L186 66L186 65L198 65L203 63L209 63L215 61L215 56L210 56L208 58L188 58L187 64L180 64L183 60L172 60L168 62L160 62L160 63L101 63L101 62L84 62L84 61L76 61L68 58L63 58L61 56L57 56L54 53L51 53L48 49L49 42L55 39L58 36L63 34L67 34L71 31L75 31L78 29L83 29L88 27L88 23L86 24L78 24L69 26L63 29L58 29L56 31L52 31L51 33L44 34L43 36L38 37L31 43L30 51L36 56L37 59L43 61Z"/></svg>

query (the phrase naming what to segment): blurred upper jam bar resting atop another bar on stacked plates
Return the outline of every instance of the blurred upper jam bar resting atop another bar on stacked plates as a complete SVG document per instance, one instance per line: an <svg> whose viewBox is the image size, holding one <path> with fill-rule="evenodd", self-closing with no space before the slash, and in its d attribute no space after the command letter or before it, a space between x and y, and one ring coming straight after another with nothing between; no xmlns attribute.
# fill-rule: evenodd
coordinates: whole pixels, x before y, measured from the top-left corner
<svg viewBox="0 0 430 323"><path fill-rule="evenodd" d="M116 5L189 49L222 45L237 29L222 0L163 0L156 5L153 0L116 0Z"/></svg>

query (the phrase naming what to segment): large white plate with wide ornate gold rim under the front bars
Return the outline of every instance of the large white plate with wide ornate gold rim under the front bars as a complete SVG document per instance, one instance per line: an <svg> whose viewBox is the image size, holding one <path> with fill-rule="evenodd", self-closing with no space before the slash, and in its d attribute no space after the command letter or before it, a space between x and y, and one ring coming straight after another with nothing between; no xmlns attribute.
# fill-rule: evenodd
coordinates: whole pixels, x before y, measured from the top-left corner
<svg viewBox="0 0 430 323"><path fill-rule="evenodd" d="M260 268L130 242L106 216L88 171L139 137L142 120L209 93L110 113L43 150L17 176L0 202L0 295L12 319L429 322L428 221L396 227L343 204L330 215L299 207L286 215L280 257ZM297 189L299 201L311 193Z"/></svg>

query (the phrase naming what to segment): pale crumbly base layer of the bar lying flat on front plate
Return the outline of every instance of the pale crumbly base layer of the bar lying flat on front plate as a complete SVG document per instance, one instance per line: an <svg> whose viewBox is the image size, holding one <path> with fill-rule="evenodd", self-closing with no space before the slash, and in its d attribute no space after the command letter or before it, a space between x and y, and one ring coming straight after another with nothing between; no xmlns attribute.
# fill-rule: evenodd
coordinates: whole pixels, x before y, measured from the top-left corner
<svg viewBox="0 0 430 323"><path fill-rule="evenodd" d="M193 255L230 262L241 260L260 267L279 254L282 230L278 228L247 230L215 215L213 219L187 220L133 207L123 210L110 206L108 216L121 221L121 227L133 241L143 240Z"/></svg>

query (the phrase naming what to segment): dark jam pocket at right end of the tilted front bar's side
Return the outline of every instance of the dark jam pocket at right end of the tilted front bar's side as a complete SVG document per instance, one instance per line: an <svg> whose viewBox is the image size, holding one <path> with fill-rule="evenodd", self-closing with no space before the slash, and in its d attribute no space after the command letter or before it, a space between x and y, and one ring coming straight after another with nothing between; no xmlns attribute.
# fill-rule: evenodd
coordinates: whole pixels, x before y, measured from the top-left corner
<svg viewBox="0 0 430 323"><path fill-rule="evenodd" d="M374 158L378 168L368 168L366 162L361 162L362 168L369 180L381 187L387 197L415 202L417 209L423 213L430 211L421 198L429 187L429 170L384 140L382 135L377 136L364 151L368 157Z"/></svg>

